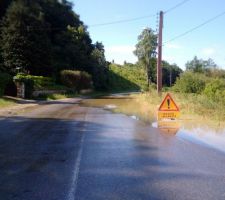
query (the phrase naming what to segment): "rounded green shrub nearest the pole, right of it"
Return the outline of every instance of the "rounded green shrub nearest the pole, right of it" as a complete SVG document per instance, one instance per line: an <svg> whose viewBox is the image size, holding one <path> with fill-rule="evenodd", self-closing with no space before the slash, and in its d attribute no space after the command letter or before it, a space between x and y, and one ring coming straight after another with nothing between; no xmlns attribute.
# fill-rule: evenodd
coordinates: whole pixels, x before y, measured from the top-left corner
<svg viewBox="0 0 225 200"><path fill-rule="evenodd" d="M204 90L207 80L207 77L203 74L185 72L176 80L173 90L200 94Z"/></svg>

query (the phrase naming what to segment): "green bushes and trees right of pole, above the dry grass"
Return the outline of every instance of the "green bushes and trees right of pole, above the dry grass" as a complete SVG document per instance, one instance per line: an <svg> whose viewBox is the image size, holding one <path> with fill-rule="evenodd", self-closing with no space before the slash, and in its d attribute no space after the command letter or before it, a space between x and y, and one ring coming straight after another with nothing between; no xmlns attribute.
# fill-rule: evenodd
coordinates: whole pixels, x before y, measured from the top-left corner
<svg viewBox="0 0 225 200"><path fill-rule="evenodd" d="M206 101L225 106L225 71L218 69L212 59L194 59L186 64L186 71L177 79L173 90L200 94ZM211 105L211 103L209 103Z"/></svg>

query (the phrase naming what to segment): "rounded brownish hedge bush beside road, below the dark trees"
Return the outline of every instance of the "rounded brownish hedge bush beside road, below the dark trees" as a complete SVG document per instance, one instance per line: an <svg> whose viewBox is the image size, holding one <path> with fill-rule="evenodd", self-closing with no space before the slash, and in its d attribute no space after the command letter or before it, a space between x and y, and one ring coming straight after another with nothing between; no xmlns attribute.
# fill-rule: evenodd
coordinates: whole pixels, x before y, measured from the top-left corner
<svg viewBox="0 0 225 200"><path fill-rule="evenodd" d="M61 82L79 92L82 89L89 89L92 87L92 78L91 75L84 71L75 71L75 70L63 70L60 73Z"/></svg>

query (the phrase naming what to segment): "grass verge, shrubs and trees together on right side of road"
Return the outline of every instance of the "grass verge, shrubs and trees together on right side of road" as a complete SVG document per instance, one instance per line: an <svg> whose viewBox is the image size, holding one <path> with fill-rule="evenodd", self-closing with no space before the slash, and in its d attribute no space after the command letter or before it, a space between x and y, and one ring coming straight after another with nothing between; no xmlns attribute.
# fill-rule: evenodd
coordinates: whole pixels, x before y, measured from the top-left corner
<svg viewBox="0 0 225 200"><path fill-rule="evenodd" d="M193 60L195 62L189 61L186 71L177 76L174 86L167 87L166 90L172 93L179 105L182 120L201 121L217 127L224 126L225 70L219 69L215 64L211 65L214 63L211 59L198 61L195 57ZM165 94L165 92L162 94L162 98ZM156 110L162 98L158 96L156 90L150 89L148 92L133 95L132 106L137 109L122 106L118 111L152 122L157 119Z"/></svg>

